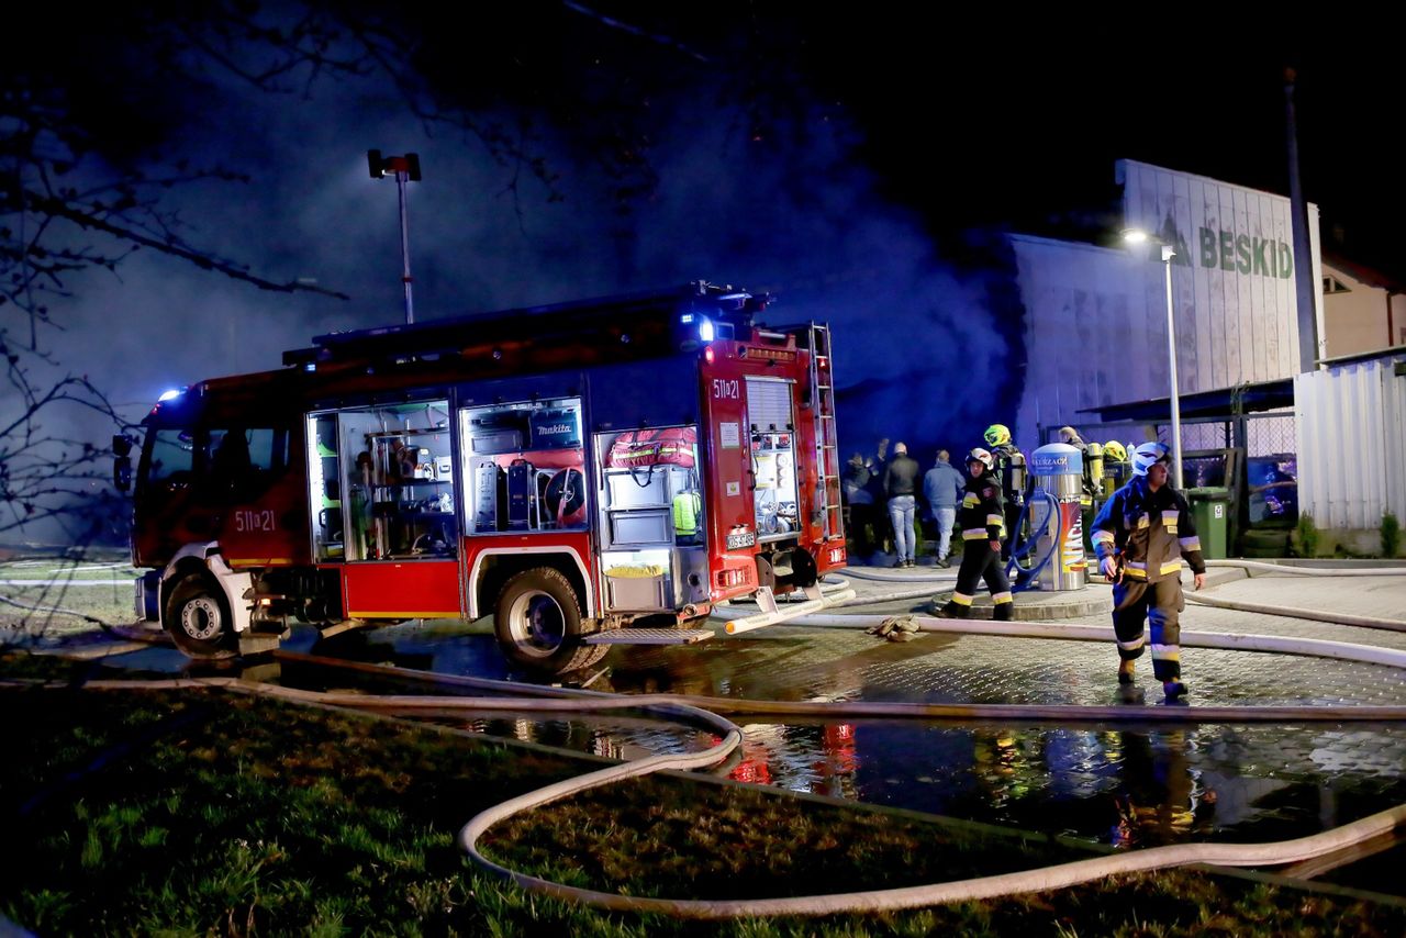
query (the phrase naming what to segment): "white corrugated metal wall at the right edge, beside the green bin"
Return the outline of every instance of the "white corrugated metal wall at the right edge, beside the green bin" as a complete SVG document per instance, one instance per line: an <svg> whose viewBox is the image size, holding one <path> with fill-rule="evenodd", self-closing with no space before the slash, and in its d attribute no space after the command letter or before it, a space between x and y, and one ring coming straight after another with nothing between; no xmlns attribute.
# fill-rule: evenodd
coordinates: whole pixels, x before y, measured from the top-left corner
<svg viewBox="0 0 1406 938"><path fill-rule="evenodd" d="M1406 520L1406 356L1294 378L1299 509L1323 529Z"/></svg>

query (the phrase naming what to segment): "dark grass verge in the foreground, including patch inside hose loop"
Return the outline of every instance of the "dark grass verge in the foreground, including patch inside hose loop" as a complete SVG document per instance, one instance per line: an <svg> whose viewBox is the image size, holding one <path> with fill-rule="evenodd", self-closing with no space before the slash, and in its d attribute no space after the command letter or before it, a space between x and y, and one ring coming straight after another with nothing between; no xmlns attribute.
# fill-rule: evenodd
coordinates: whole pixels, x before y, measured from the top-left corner
<svg viewBox="0 0 1406 938"><path fill-rule="evenodd" d="M1192 870L890 915L610 915L489 879L454 845L478 810L579 773L571 759L222 692L0 700L24 714L4 733L20 758L0 762L13 862L0 910L39 934L1406 934L1403 908ZM1042 838L673 778L516 818L488 848L564 882L678 897L917 885L1067 856Z"/></svg>

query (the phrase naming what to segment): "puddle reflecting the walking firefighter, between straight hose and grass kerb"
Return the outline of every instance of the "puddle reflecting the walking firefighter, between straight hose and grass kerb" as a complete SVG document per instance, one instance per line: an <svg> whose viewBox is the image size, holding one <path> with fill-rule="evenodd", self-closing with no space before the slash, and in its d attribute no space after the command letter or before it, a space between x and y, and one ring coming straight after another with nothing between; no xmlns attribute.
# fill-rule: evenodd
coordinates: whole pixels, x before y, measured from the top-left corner
<svg viewBox="0 0 1406 938"><path fill-rule="evenodd" d="M1395 766L1353 771L1315 761L1320 727L744 728L741 780L1115 845L1296 837L1406 800L1399 728L1365 731Z"/></svg>

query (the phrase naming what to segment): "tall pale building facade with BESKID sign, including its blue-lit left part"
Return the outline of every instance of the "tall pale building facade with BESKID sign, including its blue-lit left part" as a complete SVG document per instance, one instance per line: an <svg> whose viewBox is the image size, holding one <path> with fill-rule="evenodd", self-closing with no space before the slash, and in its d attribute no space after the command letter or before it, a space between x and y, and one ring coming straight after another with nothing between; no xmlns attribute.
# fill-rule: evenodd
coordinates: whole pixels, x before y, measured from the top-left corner
<svg viewBox="0 0 1406 938"><path fill-rule="evenodd" d="M1180 392L1292 378L1301 363L1289 200L1133 160L1116 172L1123 226L1175 249ZM1319 284L1317 208L1308 208ZM1091 408L1168 397L1166 269L1156 245L1135 253L1024 235L1011 243L1026 309L1018 439L1088 423Z"/></svg>

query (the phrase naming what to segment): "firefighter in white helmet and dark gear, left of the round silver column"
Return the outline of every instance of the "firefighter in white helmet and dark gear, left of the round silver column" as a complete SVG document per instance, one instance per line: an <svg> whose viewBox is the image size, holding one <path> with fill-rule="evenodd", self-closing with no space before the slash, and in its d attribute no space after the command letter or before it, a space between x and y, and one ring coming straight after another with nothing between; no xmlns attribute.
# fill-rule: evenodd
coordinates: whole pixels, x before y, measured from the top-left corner
<svg viewBox="0 0 1406 938"><path fill-rule="evenodd" d="M991 591L995 609L991 615L997 622L1010 622L1014 610L1011 602L1011 581L1005 578L1001 564L1001 539L1005 536L1005 510L1001 501L1001 482L991 473L994 460L986 450L972 450L967 454L966 489L957 512L957 526L962 529L962 567L957 570L957 586L938 615L943 619L966 619L972 613L972 595L983 578Z"/></svg>

